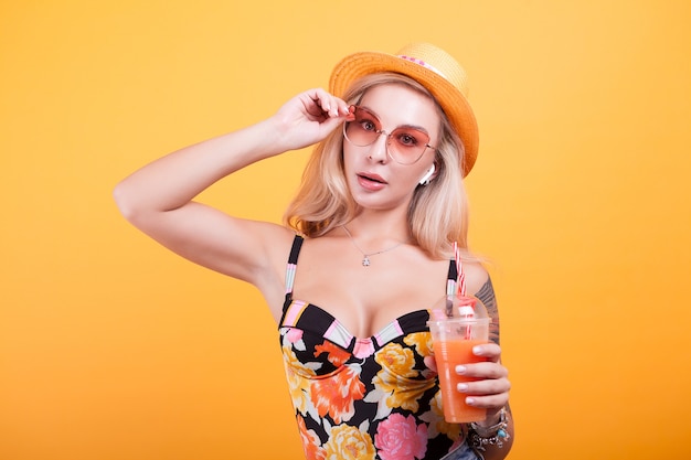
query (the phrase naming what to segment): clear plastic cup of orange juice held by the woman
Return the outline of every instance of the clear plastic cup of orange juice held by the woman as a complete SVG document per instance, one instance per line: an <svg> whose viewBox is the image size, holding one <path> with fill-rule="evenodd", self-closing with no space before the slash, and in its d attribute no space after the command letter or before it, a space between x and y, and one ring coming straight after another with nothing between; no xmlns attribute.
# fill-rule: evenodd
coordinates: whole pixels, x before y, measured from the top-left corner
<svg viewBox="0 0 691 460"><path fill-rule="evenodd" d="M459 364L486 361L486 359L472 354L475 345L489 341L491 320L487 318L483 308L482 306L482 311L478 311L477 315L447 318L435 314L427 322L432 332L432 346L439 374L444 419L448 422L480 421L487 417L486 409L468 406L466 404L467 395L458 392L459 383L472 382L477 378L456 373L456 366Z"/></svg>

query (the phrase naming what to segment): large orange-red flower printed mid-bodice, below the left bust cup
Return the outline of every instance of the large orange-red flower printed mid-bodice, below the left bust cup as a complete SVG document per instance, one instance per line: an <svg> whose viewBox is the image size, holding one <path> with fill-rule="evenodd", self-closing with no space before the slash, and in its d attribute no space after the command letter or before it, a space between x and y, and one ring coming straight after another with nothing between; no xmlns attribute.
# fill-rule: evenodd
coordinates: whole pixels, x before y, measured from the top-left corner
<svg viewBox="0 0 691 460"><path fill-rule="evenodd" d="M354 402L364 396L360 381L359 364L349 364L328 378L319 378L311 385L311 402L319 417L329 414L336 424L348 421L355 413Z"/></svg>

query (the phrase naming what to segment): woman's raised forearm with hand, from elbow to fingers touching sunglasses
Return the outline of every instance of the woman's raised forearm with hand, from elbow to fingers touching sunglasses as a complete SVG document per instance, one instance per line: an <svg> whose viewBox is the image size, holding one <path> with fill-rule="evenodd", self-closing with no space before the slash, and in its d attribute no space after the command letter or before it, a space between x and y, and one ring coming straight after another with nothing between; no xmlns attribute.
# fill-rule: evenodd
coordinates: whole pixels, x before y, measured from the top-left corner
<svg viewBox="0 0 691 460"><path fill-rule="evenodd" d="M322 89L304 92L272 117L190 146L136 171L115 190L130 221L178 210L220 179L262 159L321 141L341 124L346 103Z"/></svg>

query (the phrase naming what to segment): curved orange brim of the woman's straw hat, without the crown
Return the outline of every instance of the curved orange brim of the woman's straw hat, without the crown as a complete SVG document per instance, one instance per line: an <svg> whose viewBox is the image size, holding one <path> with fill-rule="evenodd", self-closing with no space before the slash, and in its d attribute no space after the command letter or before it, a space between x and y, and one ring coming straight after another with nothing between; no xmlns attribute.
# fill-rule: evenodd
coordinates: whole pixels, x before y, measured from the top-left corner
<svg viewBox="0 0 691 460"><path fill-rule="evenodd" d="M466 97L442 75L392 54L360 52L346 56L336 65L329 79L329 90L342 97L354 81L382 72L407 75L429 90L464 143L463 175L466 176L478 156L478 124Z"/></svg>

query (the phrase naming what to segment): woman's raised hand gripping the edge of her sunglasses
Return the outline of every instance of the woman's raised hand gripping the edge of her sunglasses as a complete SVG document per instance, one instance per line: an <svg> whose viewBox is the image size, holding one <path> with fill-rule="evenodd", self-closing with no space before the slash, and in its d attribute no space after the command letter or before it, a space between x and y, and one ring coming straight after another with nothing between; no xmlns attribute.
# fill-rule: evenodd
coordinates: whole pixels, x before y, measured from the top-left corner
<svg viewBox="0 0 691 460"><path fill-rule="evenodd" d="M287 150L317 143L348 116L348 105L321 88L300 93L276 113L272 120Z"/></svg>

